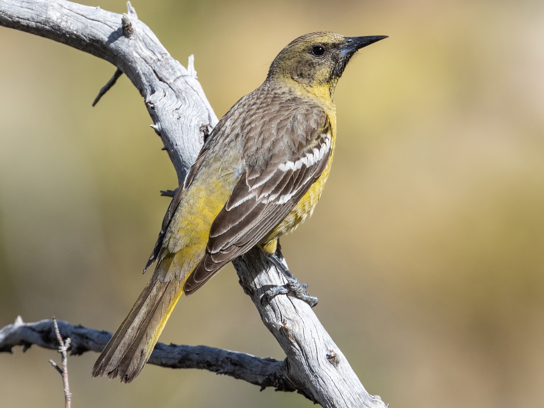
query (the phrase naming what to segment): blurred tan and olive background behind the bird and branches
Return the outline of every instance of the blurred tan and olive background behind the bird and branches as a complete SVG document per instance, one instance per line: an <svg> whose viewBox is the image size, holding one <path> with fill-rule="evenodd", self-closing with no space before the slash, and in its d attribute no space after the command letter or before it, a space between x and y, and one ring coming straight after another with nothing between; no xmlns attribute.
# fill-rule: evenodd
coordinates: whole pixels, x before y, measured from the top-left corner
<svg viewBox="0 0 544 408"><path fill-rule="evenodd" d="M122 0L92 5L118 13ZM290 40L391 35L336 91L335 163L290 268L364 386L391 407L544 405L544 4L537 1L134 0L195 67L221 117ZM81 51L0 28L0 326L20 314L114 331L176 187L138 91ZM283 358L231 265L182 298L160 337ZM311 407L197 370L132 384L69 358L73 406ZM5 407L60 407L32 347L0 355Z"/></svg>

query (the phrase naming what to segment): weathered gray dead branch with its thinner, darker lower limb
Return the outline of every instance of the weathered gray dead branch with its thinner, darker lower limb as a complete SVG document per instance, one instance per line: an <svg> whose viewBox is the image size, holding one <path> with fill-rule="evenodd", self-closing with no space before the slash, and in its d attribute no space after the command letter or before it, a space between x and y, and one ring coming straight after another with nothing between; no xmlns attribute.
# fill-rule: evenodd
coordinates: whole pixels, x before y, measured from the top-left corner
<svg viewBox="0 0 544 408"><path fill-rule="evenodd" d="M178 180L183 181L203 139L218 120L196 80L193 59L189 59L186 69L172 58L151 29L138 20L129 3L128 13L120 15L65 0L0 0L0 25L63 42L103 58L125 73L144 97L154 122L152 127L168 151ZM285 362L205 346L190 348L157 344L150 363L223 372L225 361L231 358L238 362L236 359L239 358L251 362L244 366L248 368L246 375L237 376L239 374L231 374L228 370L224 373L258 385L265 384L259 382L261 374L258 373L265 373L265 376L276 373L285 386L270 386L285 391L296 389L324 407L385 407L380 397L372 396L364 389L310 306L283 295L276 296L269 304L261 304L265 290L284 285L286 281L260 251L251 250L233 264L240 285L285 351ZM42 321L31 326L47 324L47 321ZM100 351L110 336L108 332L89 331L80 326L61 326L61 330L67 330L66 336L72 338L72 350L76 353L87 349ZM29 330L28 335L20 336L16 344L47 344L39 331L24 327L15 332ZM81 341L81 337L91 332L95 333L94 337ZM76 340L78 333L81 335ZM5 344L8 347L11 343ZM213 368L208 368L207 364ZM256 379L250 380L251 375ZM264 386L269 386L266 384Z"/></svg>

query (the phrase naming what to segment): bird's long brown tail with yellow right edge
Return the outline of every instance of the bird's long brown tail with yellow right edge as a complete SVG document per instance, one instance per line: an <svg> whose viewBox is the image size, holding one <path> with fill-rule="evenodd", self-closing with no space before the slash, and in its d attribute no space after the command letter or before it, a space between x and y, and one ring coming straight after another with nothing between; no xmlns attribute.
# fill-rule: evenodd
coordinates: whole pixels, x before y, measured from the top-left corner
<svg viewBox="0 0 544 408"><path fill-rule="evenodd" d="M166 320L183 293L183 281L164 281L156 270L119 329L102 351L92 376L119 376L122 382L134 380L149 359Z"/></svg>

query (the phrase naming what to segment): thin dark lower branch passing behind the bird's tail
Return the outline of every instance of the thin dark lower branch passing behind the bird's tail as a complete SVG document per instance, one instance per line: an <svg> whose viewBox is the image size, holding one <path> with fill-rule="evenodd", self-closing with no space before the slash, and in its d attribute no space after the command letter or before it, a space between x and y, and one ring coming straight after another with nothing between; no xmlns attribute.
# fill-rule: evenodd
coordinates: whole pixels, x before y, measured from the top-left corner
<svg viewBox="0 0 544 408"><path fill-rule="evenodd" d="M112 337L112 333L108 331L89 329L82 325L74 326L61 320L57 320L57 323L61 337L71 339L69 348L71 355L80 355L86 351L100 352ZM26 351L32 344L58 350L59 342L53 320L24 323L21 317L17 317L15 323L0 329L0 353L11 353L13 347L17 345L22 345L23 351ZM148 363L161 367L198 368L225 374L258 385L261 390L274 387L276 391L296 391L286 373L284 361L256 357L238 351L206 345L157 343Z"/></svg>

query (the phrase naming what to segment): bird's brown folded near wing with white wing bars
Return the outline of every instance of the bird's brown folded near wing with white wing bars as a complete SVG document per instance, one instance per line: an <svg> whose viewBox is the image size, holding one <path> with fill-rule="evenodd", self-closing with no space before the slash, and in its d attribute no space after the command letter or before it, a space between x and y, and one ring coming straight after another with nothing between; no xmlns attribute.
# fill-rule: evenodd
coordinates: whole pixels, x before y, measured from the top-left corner
<svg viewBox="0 0 544 408"><path fill-rule="evenodd" d="M326 168L331 153L331 131L323 110L298 109L279 121L285 122L285 134L271 138L262 132L248 141L246 150L250 151L245 157L253 163L247 166L215 218L206 255L184 285L186 294L258 244Z"/></svg>

